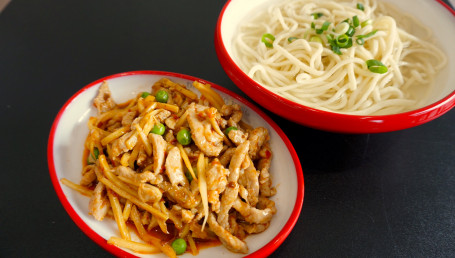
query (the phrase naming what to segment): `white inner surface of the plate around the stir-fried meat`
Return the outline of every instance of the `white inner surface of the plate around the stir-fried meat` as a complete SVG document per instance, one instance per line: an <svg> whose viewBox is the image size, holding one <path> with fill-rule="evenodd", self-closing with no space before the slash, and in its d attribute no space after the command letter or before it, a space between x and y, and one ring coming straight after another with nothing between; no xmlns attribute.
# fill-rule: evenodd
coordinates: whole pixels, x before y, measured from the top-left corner
<svg viewBox="0 0 455 258"><path fill-rule="evenodd" d="M139 92L150 91L153 83L163 76L161 75L130 75L109 79L109 88L112 96L117 103L134 98ZM197 92L191 85L192 81L166 76L173 81L185 84L194 92ZM82 153L84 141L88 134L87 121L90 116L96 115L93 107L93 99L97 94L101 83L88 88L80 93L67 106L55 131L53 156L57 178L66 178L72 182L79 183L82 170ZM260 249L269 243L284 227L289 220L294 209L297 198L297 172L292 156L283 142L270 124L268 124L253 109L242 102L231 98L229 95L219 92L226 103L235 102L241 105L244 120L254 127L266 127L271 135L270 143L273 151L272 167L270 169L273 176L273 184L277 187L277 194L272 198L276 202L277 214L272 219L270 227L263 233L247 237L246 242L250 253ZM96 233L105 239L111 236L119 236L117 225L112 219L105 219L102 222L95 220L88 214L89 198L78 192L60 185L69 203L76 211L77 215ZM134 235L134 234L133 234ZM130 252L129 250L125 250ZM130 252L131 253L131 252ZM134 255L151 257L150 255ZM153 257L166 257L162 254L152 255ZM203 249L199 257L242 257L243 255L229 252L223 246ZM193 257L185 254L183 257Z"/></svg>

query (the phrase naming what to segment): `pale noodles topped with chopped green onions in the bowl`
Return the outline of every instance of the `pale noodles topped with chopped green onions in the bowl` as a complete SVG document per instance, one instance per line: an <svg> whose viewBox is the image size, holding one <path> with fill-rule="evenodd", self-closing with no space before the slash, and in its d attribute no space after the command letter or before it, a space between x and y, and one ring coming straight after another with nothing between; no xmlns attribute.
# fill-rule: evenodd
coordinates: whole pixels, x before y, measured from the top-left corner
<svg viewBox="0 0 455 258"><path fill-rule="evenodd" d="M264 88L312 108L385 115L421 107L447 64L431 31L376 0L288 0L242 23L233 57Z"/></svg>

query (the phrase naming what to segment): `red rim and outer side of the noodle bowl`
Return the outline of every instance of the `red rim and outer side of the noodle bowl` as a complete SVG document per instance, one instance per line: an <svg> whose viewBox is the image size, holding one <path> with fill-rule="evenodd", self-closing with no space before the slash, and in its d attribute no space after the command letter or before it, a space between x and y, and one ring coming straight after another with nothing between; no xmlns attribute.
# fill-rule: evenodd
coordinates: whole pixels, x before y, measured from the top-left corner
<svg viewBox="0 0 455 258"><path fill-rule="evenodd" d="M441 0L435 0L455 16L455 11ZM307 107L283 98L251 79L243 72L226 50L221 26L232 0L224 5L215 28L215 50L221 66L231 80L249 97L264 108L293 122L338 133L381 133L402 130L429 122L448 112L455 105L455 90L441 100L405 113L382 116L357 116L332 113ZM455 83L455 82L454 82ZM295 116L295 114L301 114Z"/></svg>

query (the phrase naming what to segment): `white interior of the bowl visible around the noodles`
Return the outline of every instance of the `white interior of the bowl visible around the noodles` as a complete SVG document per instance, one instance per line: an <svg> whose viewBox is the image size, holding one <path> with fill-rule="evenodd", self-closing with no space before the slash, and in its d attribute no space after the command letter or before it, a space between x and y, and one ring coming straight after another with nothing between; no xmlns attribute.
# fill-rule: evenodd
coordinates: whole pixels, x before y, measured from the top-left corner
<svg viewBox="0 0 455 258"><path fill-rule="evenodd" d="M446 53L448 65L437 76L434 86L419 104L423 107L441 100L455 90L455 16L435 0L382 0L395 5L401 11L416 17L433 31L435 41ZM232 0L226 8L221 23L221 38L227 53L234 62L232 43L237 35L239 24L257 15L258 10L266 8L279 0Z"/></svg>

